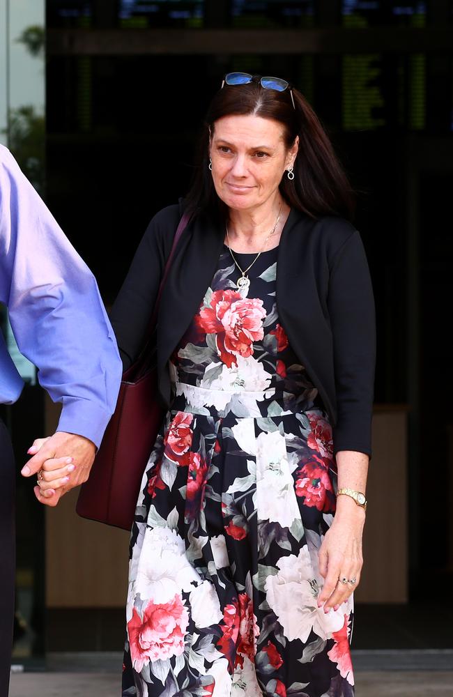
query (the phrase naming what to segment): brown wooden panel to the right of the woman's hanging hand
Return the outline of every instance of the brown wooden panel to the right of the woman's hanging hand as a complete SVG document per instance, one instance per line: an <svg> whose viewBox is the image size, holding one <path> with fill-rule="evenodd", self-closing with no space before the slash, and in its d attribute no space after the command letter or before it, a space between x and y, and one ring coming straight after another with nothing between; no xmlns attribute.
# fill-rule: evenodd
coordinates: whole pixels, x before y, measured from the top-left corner
<svg viewBox="0 0 453 697"><path fill-rule="evenodd" d="M357 602L408 600L406 411L376 409L367 484L364 569Z"/></svg>

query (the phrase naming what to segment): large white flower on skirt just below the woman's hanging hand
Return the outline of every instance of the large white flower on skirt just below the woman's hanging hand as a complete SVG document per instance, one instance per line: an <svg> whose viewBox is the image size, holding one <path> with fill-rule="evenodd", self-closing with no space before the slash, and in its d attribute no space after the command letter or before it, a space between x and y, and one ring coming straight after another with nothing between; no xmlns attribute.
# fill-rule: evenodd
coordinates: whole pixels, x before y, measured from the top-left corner
<svg viewBox="0 0 453 697"><path fill-rule="evenodd" d="M327 614L318 608L319 579L314 578L312 559L305 544L296 557L290 554L277 562L280 569L275 576L268 576L265 583L266 600L277 615L289 641L307 642L313 630L321 639L332 638L344 624L348 612L343 603L337 611Z"/></svg>

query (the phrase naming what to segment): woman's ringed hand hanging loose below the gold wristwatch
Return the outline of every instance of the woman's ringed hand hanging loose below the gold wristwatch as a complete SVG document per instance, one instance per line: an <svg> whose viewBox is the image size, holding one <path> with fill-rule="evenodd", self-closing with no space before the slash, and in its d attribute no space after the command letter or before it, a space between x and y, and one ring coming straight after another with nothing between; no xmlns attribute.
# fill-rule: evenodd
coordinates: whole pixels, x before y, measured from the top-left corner
<svg viewBox="0 0 453 697"><path fill-rule="evenodd" d="M337 608L358 587L362 570L362 533L365 512L353 499L339 496L337 513L319 550L319 572L325 579L318 597L324 611ZM346 583L341 579L346 579Z"/></svg>

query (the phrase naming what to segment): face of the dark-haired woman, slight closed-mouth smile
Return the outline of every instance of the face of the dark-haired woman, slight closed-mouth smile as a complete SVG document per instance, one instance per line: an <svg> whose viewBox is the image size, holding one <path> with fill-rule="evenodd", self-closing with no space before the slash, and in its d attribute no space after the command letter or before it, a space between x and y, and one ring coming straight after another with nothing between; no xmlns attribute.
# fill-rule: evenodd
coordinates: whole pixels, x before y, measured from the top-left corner
<svg viewBox="0 0 453 697"><path fill-rule="evenodd" d="M286 149L284 128L261 116L224 116L210 141L213 182L229 208L259 208L275 196L285 169L293 164L298 138Z"/></svg>

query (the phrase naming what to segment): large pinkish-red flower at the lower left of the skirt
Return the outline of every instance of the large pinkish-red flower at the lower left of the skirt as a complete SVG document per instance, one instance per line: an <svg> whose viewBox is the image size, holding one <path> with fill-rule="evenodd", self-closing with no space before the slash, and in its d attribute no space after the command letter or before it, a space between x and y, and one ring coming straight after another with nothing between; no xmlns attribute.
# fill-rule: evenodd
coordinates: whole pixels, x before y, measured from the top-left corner
<svg viewBox="0 0 453 697"><path fill-rule="evenodd" d="M128 634L135 671L140 673L149 661L181 656L188 623L189 614L178 594L167 603L154 604L150 600L142 618L134 608L128 622Z"/></svg>

